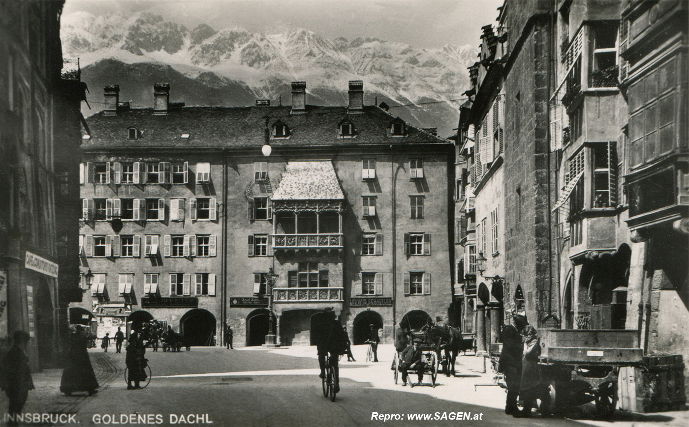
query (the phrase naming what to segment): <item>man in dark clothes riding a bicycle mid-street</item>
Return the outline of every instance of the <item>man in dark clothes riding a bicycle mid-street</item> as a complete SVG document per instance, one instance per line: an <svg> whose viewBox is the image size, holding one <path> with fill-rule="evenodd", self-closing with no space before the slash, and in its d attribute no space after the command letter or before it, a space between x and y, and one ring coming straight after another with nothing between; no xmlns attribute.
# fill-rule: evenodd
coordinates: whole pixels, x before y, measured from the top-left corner
<svg viewBox="0 0 689 427"><path fill-rule="evenodd" d="M342 330L340 321L335 318L333 307L326 307L323 310L320 322L314 325L314 336L316 338L316 348L318 349L318 364L320 365L320 377L325 378L325 356L330 355L333 371L335 372L334 392L340 391L340 366L338 359L340 354L347 351L347 337Z"/></svg>

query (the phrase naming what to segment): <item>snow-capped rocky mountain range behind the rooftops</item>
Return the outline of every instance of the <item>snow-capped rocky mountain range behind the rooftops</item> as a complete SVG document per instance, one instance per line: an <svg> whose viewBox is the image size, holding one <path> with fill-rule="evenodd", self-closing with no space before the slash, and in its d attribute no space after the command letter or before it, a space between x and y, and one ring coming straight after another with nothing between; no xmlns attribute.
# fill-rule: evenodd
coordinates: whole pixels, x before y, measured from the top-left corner
<svg viewBox="0 0 689 427"><path fill-rule="evenodd" d="M80 58L82 80L92 91L119 84L121 99L152 103L152 83L169 81L173 100L187 105L251 105L254 98L289 104L290 82L305 80L307 102L342 105L347 81L364 80L372 104L404 105L455 100L468 87L466 67L473 47L446 45L418 49L373 38L334 41L301 28L280 34L240 28L216 31L201 24L193 30L156 14L75 12L62 17L65 58ZM447 136L457 124L458 102L394 108L391 113L422 127L438 127Z"/></svg>

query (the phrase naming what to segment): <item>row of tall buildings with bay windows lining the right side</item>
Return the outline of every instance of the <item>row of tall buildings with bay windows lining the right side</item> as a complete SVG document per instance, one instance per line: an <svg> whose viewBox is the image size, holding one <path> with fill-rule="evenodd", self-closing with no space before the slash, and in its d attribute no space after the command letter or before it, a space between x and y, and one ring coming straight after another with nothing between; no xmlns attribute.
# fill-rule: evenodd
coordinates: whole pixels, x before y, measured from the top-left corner
<svg viewBox="0 0 689 427"><path fill-rule="evenodd" d="M504 275L502 307L537 327L635 329L646 361L686 360L688 22L678 1L511 0L484 27L457 144L475 197L473 212L460 210L475 222L464 250L484 255L479 311L482 294L496 296L482 278ZM504 143L486 165L482 129L500 98ZM483 221L495 203L504 258L494 273ZM493 341L489 318L477 315L480 348ZM639 384L673 387L647 367ZM659 398L652 388L637 395L644 407Z"/></svg>

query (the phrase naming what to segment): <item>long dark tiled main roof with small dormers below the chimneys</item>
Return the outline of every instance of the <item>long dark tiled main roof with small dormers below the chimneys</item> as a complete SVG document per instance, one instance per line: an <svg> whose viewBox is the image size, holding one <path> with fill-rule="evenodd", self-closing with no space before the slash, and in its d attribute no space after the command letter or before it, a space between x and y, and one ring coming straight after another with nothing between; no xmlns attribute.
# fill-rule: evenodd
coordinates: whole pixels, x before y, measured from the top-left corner
<svg viewBox="0 0 689 427"><path fill-rule="evenodd" d="M338 138L338 123L347 118L356 138ZM165 116L154 116L152 109L128 109L116 116L96 113L86 119L90 139L83 148L128 147L237 147L258 148L265 143L265 129L282 120L291 132L289 138L271 140L280 146L325 146L342 144L448 144L447 140L407 124L404 138L389 135L395 119L386 111L364 107L363 113L347 114L347 107L307 106L306 113L291 114L280 107L181 107ZM127 140L127 129L136 127L141 138ZM188 139L181 135L189 134Z"/></svg>

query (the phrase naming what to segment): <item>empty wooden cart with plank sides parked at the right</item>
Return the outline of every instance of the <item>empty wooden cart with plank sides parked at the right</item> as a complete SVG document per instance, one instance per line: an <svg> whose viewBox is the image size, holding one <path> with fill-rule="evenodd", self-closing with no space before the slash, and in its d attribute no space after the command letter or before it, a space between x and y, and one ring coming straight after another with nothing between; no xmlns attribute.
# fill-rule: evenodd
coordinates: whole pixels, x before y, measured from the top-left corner
<svg viewBox="0 0 689 427"><path fill-rule="evenodd" d="M613 415L619 368L643 361L637 331L542 329L539 337L543 384L539 412L595 402L597 417Z"/></svg>

